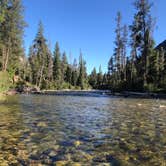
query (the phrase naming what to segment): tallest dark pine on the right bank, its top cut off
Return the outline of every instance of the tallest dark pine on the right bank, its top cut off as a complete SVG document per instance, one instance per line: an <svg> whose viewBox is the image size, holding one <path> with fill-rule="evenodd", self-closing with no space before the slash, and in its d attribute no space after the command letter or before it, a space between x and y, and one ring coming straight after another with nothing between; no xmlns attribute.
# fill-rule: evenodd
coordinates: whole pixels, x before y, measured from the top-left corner
<svg viewBox="0 0 166 166"><path fill-rule="evenodd" d="M133 66L136 59L137 74L140 74L138 77L141 78L143 75L143 86L146 86L148 63L147 47L150 47L148 44L150 44L149 41L152 41L152 36L150 35L152 32L152 17L150 15L152 5L148 0L136 0L134 6L137 12L134 16L133 24L130 26ZM149 41L147 41L147 36L149 36Z"/></svg>

